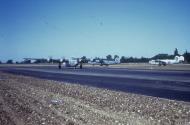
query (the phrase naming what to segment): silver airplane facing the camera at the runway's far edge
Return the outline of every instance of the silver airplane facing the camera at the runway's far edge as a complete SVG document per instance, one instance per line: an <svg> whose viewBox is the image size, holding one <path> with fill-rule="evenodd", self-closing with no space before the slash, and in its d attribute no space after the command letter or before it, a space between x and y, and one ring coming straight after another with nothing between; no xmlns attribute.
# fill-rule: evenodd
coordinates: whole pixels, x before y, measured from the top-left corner
<svg viewBox="0 0 190 125"><path fill-rule="evenodd" d="M79 66L80 69L83 68L82 67L82 59L81 58L74 58L74 57L72 57L71 59L64 59L62 61L62 64L63 64L64 67L74 67L76 69L77 66Z"/></svg>

